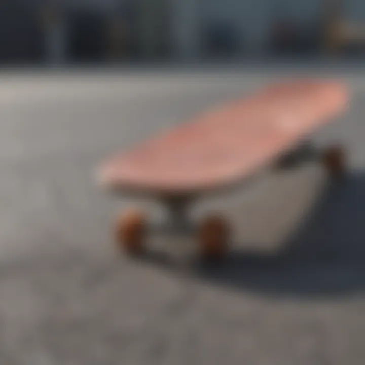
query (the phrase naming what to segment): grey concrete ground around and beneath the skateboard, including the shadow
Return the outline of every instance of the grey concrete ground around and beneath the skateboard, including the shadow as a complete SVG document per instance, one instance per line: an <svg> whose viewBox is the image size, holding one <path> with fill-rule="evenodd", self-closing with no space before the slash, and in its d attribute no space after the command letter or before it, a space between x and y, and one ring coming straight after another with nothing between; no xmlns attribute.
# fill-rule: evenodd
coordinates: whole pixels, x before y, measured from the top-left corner
<svg viewBox="0 0 365 365"><path fill-rule="evenodd" d="M184 279L168 255L160 260L163 248L142 262L118 254L111 222L132 199L96 185L109 153L296 73L1 75L0 363L362 364L365 71L300 70L353 92L347 116L314 137L318 147L346 145L345 180L331 184L308 163L197 205L197 215L221 209L235 226L219 267L197 265Z"/></svg>

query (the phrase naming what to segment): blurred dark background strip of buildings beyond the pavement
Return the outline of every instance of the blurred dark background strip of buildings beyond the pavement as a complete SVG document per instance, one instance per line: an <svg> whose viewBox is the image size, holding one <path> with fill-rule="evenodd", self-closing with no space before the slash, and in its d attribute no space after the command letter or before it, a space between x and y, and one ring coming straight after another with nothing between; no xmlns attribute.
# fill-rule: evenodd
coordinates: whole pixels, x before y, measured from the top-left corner
<svg viewBox="0 0 365 365"><path fill-rule="evenodd" d="M361 0L4 0L0 62L363 55Z"/></svg>

